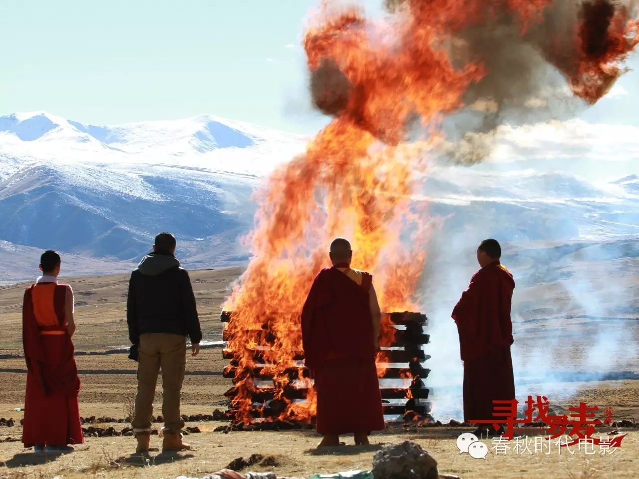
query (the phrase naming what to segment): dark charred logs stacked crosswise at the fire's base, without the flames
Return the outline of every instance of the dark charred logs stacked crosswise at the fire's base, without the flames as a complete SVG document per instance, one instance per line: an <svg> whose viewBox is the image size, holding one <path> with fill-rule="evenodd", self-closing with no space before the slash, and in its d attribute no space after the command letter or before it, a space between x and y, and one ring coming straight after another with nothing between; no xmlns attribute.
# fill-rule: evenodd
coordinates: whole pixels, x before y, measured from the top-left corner
<svg viewBox="0 0 639 479"><path fill-rule="evenodd" d="M424 332L427 326L426 315L421 313L385 313L387 320L394 328L392 339L383 339L380 342L381 351L378 353L376 362L378 365L378 375L380 377L380 393L382 407L388 421L403 422L404 418L415 421L421 418L424 421L431 420L429 412L431 403L427 401L431 389L427 388L424 380L430 370L424 366L430 356L426 354L423 346L429 343L429 334ZM220 316L222 322L232 322L233 313L222 312ZM222 334L224 341L231 340L231 333L225 329ZM254 384L251 388L253 408L250 416L254 418L277 418L286 408L288 402L292 400L305 400L308 393L309 384L312 380L311 373L302 363L284 368L283 375L287 381L282 383L282 369L278 371L278 382L273 383L273 368L265 363L265 356L270 356L266 352L270 351L275 336L270 331L268 324L262 329L252 334L254 349L249 354L254 361L254 366L249 370L243 368L241 374L240 358L236 352L227 345L222 355L229 359L229 365L224 369L224 377L233 379L233 388L226 391L225 396L233 399L238 395L238 381L244 381L249 374ZM289 353L289 357L291 354ZM303 351L293 351L291 359L293 361L303 361ZM240 377L241 376L241 377ZM300 381L305 380L305 381ZM357 381L357 378L353 378ZM302 385L300 385L300 382ZM390 383L390 384L389 384ZM400 383L400 384L397 384ZM344 391L348 393L348 391ZM227 417L238 417L238 411L231 405L226 411Z"/></svg>

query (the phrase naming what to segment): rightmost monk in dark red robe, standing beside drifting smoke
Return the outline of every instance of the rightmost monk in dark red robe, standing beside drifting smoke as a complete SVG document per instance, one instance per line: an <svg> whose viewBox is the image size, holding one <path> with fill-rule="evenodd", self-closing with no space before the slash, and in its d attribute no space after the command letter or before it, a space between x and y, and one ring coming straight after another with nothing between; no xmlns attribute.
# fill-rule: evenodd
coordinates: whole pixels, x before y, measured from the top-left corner
<svg viewBox="0 0 639 479"><path fill-rule="evenodd" d="M511 299L515 282L500 263L502 249L487 239L477 247L477 271L452 311L464 362L464 420L492 420L493 400L515 397L512 373ZM496 421L497 423L499 421ZM480 425L476 435L504 434Z"/></svg>

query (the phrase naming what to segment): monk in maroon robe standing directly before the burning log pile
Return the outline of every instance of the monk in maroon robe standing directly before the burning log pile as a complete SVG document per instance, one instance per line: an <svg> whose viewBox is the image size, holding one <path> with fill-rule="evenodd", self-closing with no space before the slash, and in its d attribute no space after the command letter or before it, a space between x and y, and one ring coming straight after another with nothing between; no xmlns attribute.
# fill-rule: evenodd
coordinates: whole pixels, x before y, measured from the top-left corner
<svg viewBox="0 0 639 479"><path fill-rule="evenodd" d="M375 356L381 312L373 276L351 269L350 243L330 245L332 268L313 281L302 310L305 364L317 392L318 447L339 446L340 434L355 434L355 444L369 444L382 430L380 382Z"/></svg>

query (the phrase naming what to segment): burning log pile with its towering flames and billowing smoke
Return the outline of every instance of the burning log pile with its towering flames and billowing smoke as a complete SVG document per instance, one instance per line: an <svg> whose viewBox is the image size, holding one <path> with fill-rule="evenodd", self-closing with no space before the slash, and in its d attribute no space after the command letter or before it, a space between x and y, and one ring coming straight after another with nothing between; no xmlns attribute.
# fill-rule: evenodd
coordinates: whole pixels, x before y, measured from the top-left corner
<svg viewBox="0 0 639 479"><path fill-rule="evenodd" d="M578 106L594 104L639 44L630 0L389 0L383 19L330 3L303 45L312 102L333 119L256 192L245 238L251 259L223 306L233 311L222 314L230 321L224 375L235 384L228 414L242 425L308 424L316 415L300 321L290 311L304 304L331 240L352 239L351 267L373 275L383 311L419 310L427 246L443 221L428 211L431 160L482 161L500 125L555 118L555 104L565 109L564 87ZM455 113L447 139L443 120ZM382 321L388 416L429 412L424 324L418 313Z"/></svg>

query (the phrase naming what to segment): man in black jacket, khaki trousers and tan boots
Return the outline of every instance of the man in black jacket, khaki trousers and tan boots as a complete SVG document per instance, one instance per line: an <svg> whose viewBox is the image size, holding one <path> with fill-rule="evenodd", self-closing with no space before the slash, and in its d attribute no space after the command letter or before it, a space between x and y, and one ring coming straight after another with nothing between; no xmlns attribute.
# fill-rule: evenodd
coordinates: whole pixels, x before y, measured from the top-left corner
<svg viewBox="0 0 639 479"><path fill-rule="evenodd" d="M191 356L199 353L202 339L196 299L189 273L176 260L176 241L171 233L155 237L153 253L142 258L128 283L128 336L137 347L137 395L132 421L137 452L149 450L153 398L162 368L163 450L189 449L182 442L184 421L180 416L180 391L184 379L186 336Z"/></svg>

